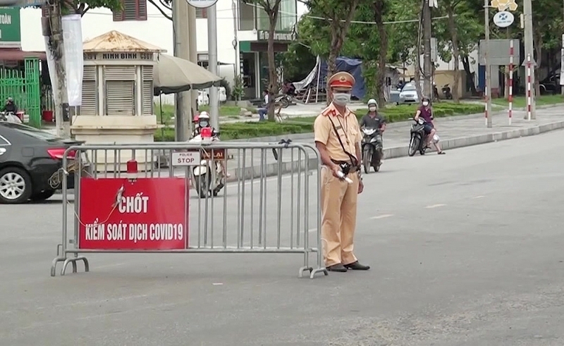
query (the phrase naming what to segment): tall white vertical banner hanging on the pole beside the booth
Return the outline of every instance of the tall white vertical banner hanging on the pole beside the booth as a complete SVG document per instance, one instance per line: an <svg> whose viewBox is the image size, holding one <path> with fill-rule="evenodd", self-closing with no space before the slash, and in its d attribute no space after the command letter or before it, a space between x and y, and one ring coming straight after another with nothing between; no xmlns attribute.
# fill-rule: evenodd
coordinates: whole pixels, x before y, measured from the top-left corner
<svg viewBox="0 0 564 346"><path fill-rule="evenodd" d="M55 60L51 49L49 49L49 37L44 36L45 53L47 55L47 66L51 76L51 87L53 97L59 101L56 92L57 74ZM65 68L66 89L68 93L68 105L80 106L82 104L82 71L84 70L84 55L82 52L82 23L80 14L63 16L63 39L65 44Z"/></svg>

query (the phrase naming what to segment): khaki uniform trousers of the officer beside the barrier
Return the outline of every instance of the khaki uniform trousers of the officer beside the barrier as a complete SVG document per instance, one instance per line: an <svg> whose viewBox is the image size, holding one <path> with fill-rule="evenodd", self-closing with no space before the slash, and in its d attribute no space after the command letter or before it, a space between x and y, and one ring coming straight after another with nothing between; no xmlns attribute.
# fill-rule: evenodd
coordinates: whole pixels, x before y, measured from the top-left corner
<svg viewBox="0 0 564 346"><path fill-rule="evenodd" d="M357 224L358 175L350 173L352 184L333 177L326 166L321 168L321 237L326 266L351 264Z"/></svg>

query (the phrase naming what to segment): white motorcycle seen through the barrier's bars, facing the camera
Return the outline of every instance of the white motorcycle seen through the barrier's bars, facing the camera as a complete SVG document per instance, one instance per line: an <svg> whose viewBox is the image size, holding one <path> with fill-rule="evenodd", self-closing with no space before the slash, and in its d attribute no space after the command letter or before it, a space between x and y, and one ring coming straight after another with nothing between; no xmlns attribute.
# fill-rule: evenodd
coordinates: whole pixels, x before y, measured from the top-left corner
<svg viewBox="0 0 564 346"><path fill-rule="evenodd" d="M219 132L215 132L214 135L219 136ZM202 137L197 135L188 142L202 142ZM200 161L200 166L192 168L192 186L194 186L200 198L205 198L210 193L217 196L226 183L221 164L219 164L219 161L226 157L225 149L215 149L213 158L211 157L212 150L204 150L202 154L204 156Z"/></svg>

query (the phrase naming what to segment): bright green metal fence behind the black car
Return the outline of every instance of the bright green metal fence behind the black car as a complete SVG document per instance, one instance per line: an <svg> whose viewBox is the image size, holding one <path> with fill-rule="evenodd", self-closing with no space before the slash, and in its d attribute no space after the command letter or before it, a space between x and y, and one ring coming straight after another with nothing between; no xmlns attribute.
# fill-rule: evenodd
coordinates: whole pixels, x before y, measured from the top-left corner
<svg viewBox="0 0 564 346"><path fill-rule="evenodd" d="M39 59L26 58L23 70L0 68L0 104L4 105L8 97L30 116L30 125L41 127Z"/></svg>

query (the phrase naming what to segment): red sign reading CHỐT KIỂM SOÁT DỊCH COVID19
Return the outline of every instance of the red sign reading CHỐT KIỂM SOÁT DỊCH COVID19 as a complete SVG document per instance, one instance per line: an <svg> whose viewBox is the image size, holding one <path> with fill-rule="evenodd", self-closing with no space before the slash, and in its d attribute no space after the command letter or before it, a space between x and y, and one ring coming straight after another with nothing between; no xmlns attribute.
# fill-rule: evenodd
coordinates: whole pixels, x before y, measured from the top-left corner
<svg viewBox="0 0 564 346"><path fill-rule="evenodd" d="M80 249L185 249L184 178L80 180Z"/></svg>

